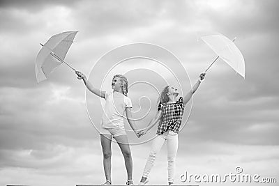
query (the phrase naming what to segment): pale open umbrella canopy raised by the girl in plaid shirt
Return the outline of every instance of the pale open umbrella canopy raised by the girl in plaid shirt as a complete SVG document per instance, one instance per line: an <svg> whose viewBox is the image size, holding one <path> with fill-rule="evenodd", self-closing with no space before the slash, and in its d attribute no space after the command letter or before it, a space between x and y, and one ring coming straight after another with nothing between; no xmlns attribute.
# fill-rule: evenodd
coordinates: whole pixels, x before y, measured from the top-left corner
<svg viewBox="0 0 279 186"><path fill-rule="evenodd" d="M239 75L245 78L245 61L239 48L234 45L234 40L229 40L220 33L201 36L200 38L213 49L218 57L223 59L223 61L231 66Z"/></svg>

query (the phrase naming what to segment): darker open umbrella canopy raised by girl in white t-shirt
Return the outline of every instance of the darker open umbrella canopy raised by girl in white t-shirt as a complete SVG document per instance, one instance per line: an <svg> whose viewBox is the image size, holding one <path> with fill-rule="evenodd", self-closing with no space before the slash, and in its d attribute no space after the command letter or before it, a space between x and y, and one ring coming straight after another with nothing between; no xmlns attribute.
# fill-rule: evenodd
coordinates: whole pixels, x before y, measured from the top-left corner
<svg viewBox="0 0 279 186"><path fill-rule="evenodd" d="M47 79L47 76L50 75L58 65L65 63L63 60L76 34L77 31L66 31L52 36L45 42L45 45L41 44L43 47L40 49L36 59L37 82Z"/></svg>

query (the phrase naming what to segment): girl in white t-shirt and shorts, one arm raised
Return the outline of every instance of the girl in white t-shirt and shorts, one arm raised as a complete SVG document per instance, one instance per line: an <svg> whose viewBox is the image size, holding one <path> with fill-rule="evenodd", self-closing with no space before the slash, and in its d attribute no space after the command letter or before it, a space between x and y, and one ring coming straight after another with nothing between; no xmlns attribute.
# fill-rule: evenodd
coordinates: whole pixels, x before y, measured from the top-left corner
<svg viewBox="0 0 279 186"><path fill-rule="evenodd" d="M132 102L127 97L128 81L123 75L114 75L112 78L112 93L100 91L92 86L82 72L76 72L77 78L82 79L85 86L92 93L105 99L104 113L102 116L100 127L100 142L103 149L103 166L105 171L106 182L103 185L112 185L111 178L111 156L112 156L112 137L117 141L125 160L127 170L126 185L134 185L132 180L133 175L133 160L130 153L130 146L124 128L123 118L126 113L127 121L134 130L137 137L140 137L135 122L132 119Z"/></svg>

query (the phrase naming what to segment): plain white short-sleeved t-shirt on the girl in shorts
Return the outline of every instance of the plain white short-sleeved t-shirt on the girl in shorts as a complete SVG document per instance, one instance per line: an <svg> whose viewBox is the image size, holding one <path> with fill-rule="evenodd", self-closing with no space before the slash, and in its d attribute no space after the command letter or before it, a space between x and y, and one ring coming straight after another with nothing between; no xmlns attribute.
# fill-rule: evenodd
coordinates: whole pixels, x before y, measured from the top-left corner
<svg viewBox="0 0 279 186"><path fill-rule="evenodd" d="M132 107L130 98L119 92L105 93L105 107L101 126L104 128L124 127L126 107Z"/></svg>

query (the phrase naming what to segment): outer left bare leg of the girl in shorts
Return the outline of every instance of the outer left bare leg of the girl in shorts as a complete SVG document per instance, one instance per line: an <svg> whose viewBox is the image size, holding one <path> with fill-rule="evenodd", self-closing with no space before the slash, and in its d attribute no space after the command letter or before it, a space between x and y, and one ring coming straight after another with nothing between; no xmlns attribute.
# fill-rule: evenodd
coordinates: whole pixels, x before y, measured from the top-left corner
<svg viewBox="0 0 279 186"><path fill-rule="evenodd" d="M112 135L100 134L100 143L103 150L103 166L105 171L105 179L112 181ZM109 184L109 182L106 182Z"/></svg>

